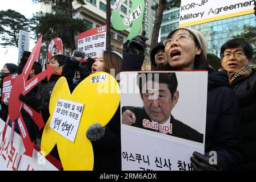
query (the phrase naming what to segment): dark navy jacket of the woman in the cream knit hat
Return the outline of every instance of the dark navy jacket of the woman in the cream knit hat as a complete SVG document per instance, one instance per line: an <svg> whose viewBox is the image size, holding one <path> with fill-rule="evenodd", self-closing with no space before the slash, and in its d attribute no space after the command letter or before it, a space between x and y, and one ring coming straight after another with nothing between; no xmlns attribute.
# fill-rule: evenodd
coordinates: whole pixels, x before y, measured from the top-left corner
<svg viewBox="0 0 256 182"><path fill-rule="evenodd" d="M237 169L242 160L238 101L223 72L209 73L205 151L216 151L223 170Z"/></svg>

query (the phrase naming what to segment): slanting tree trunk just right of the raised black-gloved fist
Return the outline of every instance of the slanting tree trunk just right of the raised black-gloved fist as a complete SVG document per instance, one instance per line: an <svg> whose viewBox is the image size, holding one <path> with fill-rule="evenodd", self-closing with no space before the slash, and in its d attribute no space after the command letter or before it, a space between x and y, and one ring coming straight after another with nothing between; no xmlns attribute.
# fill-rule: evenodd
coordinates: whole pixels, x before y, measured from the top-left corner
<svg viewBox="0 0 256 182"><path fill-rule="evenodd" d="M151 45L150 45L151 50L153 49L154 45L158 43L159 30L161 27L163 10L165 9L165 2L166 0L159 0L159 3L158 3L157 14L155 17L155 23L154 23L153 34L152 34L153 36L152 36Z"/></svg>

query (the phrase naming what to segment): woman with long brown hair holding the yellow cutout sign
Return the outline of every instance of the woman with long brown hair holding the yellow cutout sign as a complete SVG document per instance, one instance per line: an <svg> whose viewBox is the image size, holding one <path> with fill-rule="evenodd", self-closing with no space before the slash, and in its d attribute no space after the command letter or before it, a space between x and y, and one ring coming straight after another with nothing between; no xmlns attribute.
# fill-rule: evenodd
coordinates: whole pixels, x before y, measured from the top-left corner
<svg viewBox="0 0 256 182"><path fill-rule="evenodd" d="M114 71L114 76L118 75L121 67L121 56L116 52L103 51L102 55L93 63L91 72L110 73L110 71ZM84 57L85 54L82 51L75 50L71 58L67 57L65 60L63 75L66 75L66 73L74 75ZM81 75L82 77L84 76ZM68 81L68 84L70 91L73 92L77 84L73 84L71 81ZM105 127L102 127L97 121L95 122L86 131L86 137L93 145L94 171L121 170L120 107Z"/></svg>

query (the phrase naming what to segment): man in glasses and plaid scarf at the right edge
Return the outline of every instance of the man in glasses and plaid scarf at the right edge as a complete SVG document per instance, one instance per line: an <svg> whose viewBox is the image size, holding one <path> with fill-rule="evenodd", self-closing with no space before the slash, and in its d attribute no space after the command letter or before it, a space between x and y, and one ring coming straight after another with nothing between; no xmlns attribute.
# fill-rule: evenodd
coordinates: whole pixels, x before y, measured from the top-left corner
<svg viewBox="0 0 256 182"><path fill-rule="evenodd" d="M221 65L239 102L243 162L239 169L256 169L256 71L250 67L253 48L243 39L232 39L221 47Z"/></svg>

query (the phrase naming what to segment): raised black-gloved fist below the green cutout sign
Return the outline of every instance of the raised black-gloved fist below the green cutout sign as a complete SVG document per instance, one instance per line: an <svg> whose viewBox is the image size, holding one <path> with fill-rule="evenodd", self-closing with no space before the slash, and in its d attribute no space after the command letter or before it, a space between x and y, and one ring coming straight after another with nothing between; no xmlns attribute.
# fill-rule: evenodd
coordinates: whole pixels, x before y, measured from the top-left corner
<svg viewBox="0 0 256 182"><path fill-rule="evenodd" d="M144 49L147 47L146 41L149 40L145 36L145 32L142 32L142 35L137 35L133 39L127 40L123 45L123 54L133 53L144 55Z"/></svg>

